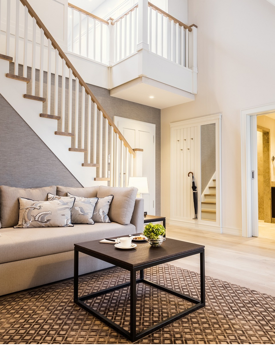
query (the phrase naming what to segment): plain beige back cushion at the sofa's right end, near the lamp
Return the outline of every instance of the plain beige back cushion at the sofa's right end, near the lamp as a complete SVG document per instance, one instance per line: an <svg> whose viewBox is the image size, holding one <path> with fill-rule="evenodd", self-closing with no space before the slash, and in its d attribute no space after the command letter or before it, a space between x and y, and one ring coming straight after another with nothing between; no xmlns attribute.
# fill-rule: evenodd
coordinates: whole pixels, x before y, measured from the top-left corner
<svg viewBox="0 0 275 355"><path fill-rule="evenodd" d="M112 194L114 198L108 213L110 220L120 224L129 224L134 211L137 191L136 187L99 186L97 197Z"/></svg>

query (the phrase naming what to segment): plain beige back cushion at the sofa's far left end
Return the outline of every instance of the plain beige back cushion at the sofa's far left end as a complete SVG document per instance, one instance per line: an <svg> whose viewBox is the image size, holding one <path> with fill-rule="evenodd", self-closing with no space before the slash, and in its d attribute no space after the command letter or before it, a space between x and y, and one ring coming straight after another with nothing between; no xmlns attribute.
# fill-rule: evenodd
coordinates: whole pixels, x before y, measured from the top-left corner
<svg viewBox="0 0 275 355"><path fill-rule="evenodd" d="M19 197L47 201L48 192L56 194L57 187L20 188L0 186L0 213L2 228L13 227L19 218Z"/></svg>

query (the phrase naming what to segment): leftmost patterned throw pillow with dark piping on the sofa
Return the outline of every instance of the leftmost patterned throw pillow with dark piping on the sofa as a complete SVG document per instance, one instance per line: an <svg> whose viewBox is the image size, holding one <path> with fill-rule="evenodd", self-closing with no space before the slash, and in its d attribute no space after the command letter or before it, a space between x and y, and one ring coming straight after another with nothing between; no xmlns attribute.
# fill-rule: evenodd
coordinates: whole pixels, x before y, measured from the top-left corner
<svg viewBox="0 0 275 355"><path fill-rule="evenodd" d="M14 228L73 227L74 197L55 201L33 201L19 197L19 222Z"/></svg>

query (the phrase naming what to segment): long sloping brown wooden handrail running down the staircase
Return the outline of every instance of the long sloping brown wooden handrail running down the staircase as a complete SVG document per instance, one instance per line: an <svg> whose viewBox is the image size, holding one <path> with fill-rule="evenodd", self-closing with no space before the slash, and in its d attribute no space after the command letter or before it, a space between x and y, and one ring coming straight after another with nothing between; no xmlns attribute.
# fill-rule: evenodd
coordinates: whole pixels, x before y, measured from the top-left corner
<svg viewBox="0 0 275 355"><path fill-rule="evenodd" d="M45 27L45 25L43 24L43 22L40 20L40 18L38 17L38 15L35 13L35 11L33 10L33 8L31 7L31 5L29 4L29 2L27 0L20 0L21 3L24 6L27 6L29 9L29 13L31 15L31 17L34 17L36 20L36 23L38 25L38 27L40 29L42 29L44 31L44 35L51 40L52 45L55 49L58 50L59 55L62 59L64 59L66 66L71 69L73 75L75 77L77 77L79 79L79 83L84 86L85 91L88 95L91 96L92 98L92 102L95 103L97 105L97 108L102 112L103 117L105 117L108 120L108 123L110 126L112 126L114 128L114 131L118 134L119 139L121 141L123 141L125 147L128 148L129 152L135 157L135 152L133 151L133 149L131 148L131 146L129 145L129 143L125 140L125 138L122 136L122 133L119 131L118 127L115 125L115 123L112 121L112 119L110 118L110 116L107 114L107 112L104 110L104 108L100 105L100 103L98 102L98 100L95 98L95 96L93 95L91 89L89 88L89 86L86 84L86 82L82 79L82 77L80 76L80 74L78 73L78 71L74 68L74 66L72 65L72 63L69 61L68 57L65 55L65 53L62 51L61 47L59 46L59 44L57 43L57 41L55 40L55 38L50 34L50 32L48 31L48 29Z"/></svg>

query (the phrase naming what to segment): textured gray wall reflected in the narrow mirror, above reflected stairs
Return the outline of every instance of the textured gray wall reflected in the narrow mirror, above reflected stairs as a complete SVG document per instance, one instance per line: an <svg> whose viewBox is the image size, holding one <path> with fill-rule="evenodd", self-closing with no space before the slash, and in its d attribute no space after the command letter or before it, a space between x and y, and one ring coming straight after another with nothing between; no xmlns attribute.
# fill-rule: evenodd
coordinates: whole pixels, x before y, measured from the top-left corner
<svg viewBox="0 0 275 355"><path fill-rule="evenodd" d="M201 192L216 171L215 123L201 126Z"/></svg>

